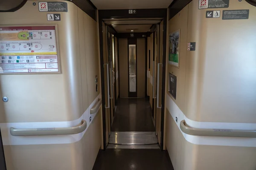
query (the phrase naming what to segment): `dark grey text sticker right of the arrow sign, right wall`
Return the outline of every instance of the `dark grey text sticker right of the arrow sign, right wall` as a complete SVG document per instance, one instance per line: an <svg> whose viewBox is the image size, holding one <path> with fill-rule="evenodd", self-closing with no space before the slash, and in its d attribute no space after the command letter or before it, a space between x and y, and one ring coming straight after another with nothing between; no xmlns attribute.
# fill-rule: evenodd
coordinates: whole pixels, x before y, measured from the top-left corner
<svg viewBox="0 0 256 170"><path fill-rule="evenodd" d="M223 10L222 20L246 20L249 19L249 9Z"/></svg>

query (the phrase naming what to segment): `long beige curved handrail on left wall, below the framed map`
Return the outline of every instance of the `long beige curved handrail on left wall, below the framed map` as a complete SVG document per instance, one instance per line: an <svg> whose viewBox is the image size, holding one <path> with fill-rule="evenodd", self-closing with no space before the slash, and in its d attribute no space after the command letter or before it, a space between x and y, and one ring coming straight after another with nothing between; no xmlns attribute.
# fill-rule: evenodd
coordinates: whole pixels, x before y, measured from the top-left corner
<svg viewBox="0 0 256 170"><path fill-rule="evenodd" d="M40 136L40 135L71 135L83 132L87 127L87 122L82 119L81 125L75 127L53 127L53 128L33 128L16 129L10 127L12 136Z"/></svg>

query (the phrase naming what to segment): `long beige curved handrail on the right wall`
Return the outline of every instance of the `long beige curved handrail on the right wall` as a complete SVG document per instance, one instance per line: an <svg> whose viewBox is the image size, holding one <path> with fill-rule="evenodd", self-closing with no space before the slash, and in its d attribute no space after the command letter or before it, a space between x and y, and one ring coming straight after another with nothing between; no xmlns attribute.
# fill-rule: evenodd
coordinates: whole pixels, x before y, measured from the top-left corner
<svg viewBox="0 0 256 170"><path fill-rule="evenodd" d="M186 134L195 136L256 137L256 130L200 129L187 126L185 120L180 121L180 129Z"/></svg>

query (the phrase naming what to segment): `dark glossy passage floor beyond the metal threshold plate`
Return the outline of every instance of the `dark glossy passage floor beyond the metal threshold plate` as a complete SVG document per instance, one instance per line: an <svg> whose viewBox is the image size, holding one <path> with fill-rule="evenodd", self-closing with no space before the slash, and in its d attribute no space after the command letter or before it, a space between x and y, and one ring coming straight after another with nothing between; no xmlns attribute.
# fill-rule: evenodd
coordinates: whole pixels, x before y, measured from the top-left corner
<svg viewBox="0 0 256 170"><path fill-rule="evenodd" d="M112 132L154 132L149 100L118 99Z"/></svg>

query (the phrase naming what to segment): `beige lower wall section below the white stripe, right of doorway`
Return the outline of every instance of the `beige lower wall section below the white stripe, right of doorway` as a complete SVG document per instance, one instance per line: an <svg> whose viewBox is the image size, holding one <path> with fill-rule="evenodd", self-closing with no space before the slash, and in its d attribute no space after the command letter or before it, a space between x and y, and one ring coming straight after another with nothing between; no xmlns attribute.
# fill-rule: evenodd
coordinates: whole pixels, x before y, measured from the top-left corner
<svg viewBox="0 0 256 170"><path fill-rule="evenodd" d="M166 110L166 148L175 170L255 170L256 147L188 142Z"/></svg>

